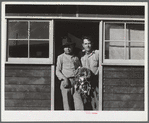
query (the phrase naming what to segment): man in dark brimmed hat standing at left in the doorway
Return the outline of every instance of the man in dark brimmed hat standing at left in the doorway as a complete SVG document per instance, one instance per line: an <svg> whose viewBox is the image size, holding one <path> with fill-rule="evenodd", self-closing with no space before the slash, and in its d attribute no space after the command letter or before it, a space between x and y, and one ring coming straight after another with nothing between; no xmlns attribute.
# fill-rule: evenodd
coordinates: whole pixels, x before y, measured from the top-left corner
<svg viewBox="0 0 149 123"><path fill-rule="evenodd" d="M61 81L60 89L63 97L64 110L84 110L82 98L75 91L75 72L81 63L79 58L74 55L75 43L69 37L62 39L64 53L57 57L56 75Z"/></svg>

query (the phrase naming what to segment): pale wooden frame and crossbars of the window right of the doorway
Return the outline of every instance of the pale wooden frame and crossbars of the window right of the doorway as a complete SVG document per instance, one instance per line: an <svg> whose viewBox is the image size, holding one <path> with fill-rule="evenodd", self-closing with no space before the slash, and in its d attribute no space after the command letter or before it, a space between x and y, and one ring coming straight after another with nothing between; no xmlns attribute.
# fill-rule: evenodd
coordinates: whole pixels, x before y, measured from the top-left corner
<svg viewBox="0 0 149 123"><path fill-rule="evenodd" d="M126 36L126 24L144 24L144 41L141 43L144 43L144 59L141 60L135 60L135 59L126 59L126 42L127 39L125 38L123 40L124 42L124 59L105 59L105 42L108 40L105 40L105 24L110 23L110 24L124 24L124 36ZM137 22L132 22L132 21L124 21L124 22L119 22L119 20L115 21L104 21L103 22L103 49L102 49L102 65L135 65L135 66L144 66L145 65L145 22L144 21L137 21ZM109 42L112 42L109 40ZM118 40L115 40L113 42L120 42ZM136 41L137 42L137 41ZM139 42L138 42L139 43Z"/></svg>

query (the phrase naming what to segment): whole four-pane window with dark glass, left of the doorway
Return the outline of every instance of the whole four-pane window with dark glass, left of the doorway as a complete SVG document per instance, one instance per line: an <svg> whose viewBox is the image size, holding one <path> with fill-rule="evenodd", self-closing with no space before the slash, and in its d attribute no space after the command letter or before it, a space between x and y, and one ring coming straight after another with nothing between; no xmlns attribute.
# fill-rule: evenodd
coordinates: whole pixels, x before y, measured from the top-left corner
<svg viewBox="0 0 149 123"><path fill-rule="evenodd" d="M52 63L51 21L8 20L7 61Z"/></svg>

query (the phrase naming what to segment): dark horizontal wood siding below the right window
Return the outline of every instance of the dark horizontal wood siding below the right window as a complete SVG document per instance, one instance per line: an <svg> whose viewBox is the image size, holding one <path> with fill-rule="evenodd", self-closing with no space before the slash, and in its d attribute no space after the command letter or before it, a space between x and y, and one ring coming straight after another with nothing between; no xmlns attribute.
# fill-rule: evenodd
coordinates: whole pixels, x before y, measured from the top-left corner
<svg viewBox="0 0 149 123"><path fill-rule="evenodd" d="M144 67L103 67L103 110L144 110Z"/></svg>

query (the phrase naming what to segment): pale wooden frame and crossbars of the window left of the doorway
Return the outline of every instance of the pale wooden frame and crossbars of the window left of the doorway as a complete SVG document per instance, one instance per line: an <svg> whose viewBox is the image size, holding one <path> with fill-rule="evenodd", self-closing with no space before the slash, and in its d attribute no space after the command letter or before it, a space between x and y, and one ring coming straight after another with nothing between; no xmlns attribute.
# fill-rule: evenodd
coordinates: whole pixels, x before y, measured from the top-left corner
<svg viewBox="0 0 149 123"><path fill-rule="evenodd" d="M27 58L19 58L19 57L14 57L14 58L9 58L8 57L8 44L6 43L6 64L53 64L54 59L53 59L53 20L31 20L31 19L6 19L6 29L8 29L8 21L10 22L49 22L49 39L43 39L45 41L49 41L49 57L48 58L29 58L29 56ZM6 41L8 42L8 40L16 40L16 39L9 39L8 38L8 30L6 30L6 35L7 35L7 39ZM29 30L28 30L28 35L29 35ZM18 39L19 40L19 39ZM22 40L22 39L21 39ZM24 40L24 39L23 39ZM34 39L29 39L29 36L27 39L25 39L26 41L31 41ZM42 39L36 39L36 40L42 40ZM29 47L29 43L28 43L28 47ZM28 48L28 55L29 55L29 48Z"/></svg>

